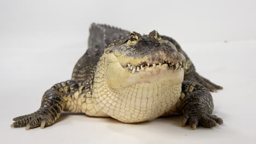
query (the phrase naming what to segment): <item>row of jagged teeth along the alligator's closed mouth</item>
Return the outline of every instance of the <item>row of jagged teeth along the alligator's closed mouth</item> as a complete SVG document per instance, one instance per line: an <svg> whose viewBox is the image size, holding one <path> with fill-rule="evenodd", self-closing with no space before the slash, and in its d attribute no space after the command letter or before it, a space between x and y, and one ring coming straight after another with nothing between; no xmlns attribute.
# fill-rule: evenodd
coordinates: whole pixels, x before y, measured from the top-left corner
<svg viewBox="0 0 256 144"><path fill-rule="evenodd" d="M146 69L149 69L149 71L153 71L156 69L161 69L161 68L167 68L169 70L176 70L179 68L184 68L188 69L187 63L185 62L171 62L171 61L164 61L162 63L147 63L143 62L138 65L132 65L130 63L126 64L126 69L129 71L131 74L139 73L140 71L144 71Z"/></svg>

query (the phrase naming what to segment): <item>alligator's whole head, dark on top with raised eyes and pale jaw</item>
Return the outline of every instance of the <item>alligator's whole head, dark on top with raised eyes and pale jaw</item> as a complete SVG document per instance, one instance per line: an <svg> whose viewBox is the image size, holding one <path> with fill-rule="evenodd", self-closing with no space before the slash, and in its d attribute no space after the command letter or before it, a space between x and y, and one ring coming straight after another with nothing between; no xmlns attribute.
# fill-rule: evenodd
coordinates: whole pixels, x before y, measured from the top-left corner
<svg viewBox="0 0 256 144"><path fill-rule="evenodd" d="M133 32L110 44L104 51L106 81L112 88L137 83L183 81L185 57L156 31L148 35Z"/></svg>

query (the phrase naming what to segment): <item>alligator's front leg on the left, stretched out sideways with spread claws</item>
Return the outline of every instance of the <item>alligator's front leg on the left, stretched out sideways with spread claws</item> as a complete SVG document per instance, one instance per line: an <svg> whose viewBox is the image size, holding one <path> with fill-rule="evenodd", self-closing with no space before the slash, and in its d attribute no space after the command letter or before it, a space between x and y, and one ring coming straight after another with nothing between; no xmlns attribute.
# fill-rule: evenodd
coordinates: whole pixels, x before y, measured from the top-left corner
<svg viewBox="0 0 256 144"><path fill-rule="evenodd" d="M44 128L54 124L66 105L63 97L72 95L80 85L82 84L75 80L57 83L44 93L39 110L30 115L14 118L13 121L15 122L11 124L11 127L26 127L26 130L28 130L39 126Z"/></svg>

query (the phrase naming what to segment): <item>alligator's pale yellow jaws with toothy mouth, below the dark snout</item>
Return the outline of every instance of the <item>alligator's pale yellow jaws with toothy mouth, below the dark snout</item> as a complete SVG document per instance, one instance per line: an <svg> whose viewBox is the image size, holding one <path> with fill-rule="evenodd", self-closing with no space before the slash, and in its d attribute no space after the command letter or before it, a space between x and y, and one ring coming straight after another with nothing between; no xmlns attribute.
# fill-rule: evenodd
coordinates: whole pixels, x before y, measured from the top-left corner
<svg viewBox="0 0 256 144"><path fill-rule="evenodd" d="M179 85L184 78L184 69L187 69L183 55L167 59L164 56L153 58L117 57L110 53L105 61L106 81L108 86L114 89L126 88L139 83L149 85L149 83L163 81Z"/></svg>

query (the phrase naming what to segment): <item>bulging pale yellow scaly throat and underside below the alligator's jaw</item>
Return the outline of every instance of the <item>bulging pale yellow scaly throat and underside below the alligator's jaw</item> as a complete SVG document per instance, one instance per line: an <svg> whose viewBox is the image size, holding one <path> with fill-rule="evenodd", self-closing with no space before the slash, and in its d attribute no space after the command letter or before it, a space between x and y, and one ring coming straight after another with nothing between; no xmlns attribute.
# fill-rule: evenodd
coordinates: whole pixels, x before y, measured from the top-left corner
<svg viewBox="0 0 256 144"><path fill-rule="evenodd" d="M146 122L176 112L180 94L181 84L170 81L139 83L119 91L103 84L94 87L92 94L94 111L98 112L85 113L110 116L124 123Z"/></svg>

